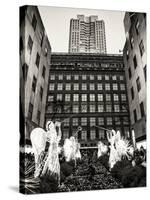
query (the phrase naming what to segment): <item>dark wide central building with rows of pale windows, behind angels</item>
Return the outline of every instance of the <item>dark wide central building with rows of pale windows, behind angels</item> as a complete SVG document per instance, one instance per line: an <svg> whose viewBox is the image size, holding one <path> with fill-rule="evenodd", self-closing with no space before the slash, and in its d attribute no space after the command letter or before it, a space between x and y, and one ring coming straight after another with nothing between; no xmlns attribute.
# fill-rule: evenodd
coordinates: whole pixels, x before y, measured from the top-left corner
<svg viewBox="0 0 150 200"><path fill-rule="evenodd" d="M106 141L103 128L120 130L129 137L122 56L52 54L45 119L62 122L63 139L78 132L81 146Z"/></svg>

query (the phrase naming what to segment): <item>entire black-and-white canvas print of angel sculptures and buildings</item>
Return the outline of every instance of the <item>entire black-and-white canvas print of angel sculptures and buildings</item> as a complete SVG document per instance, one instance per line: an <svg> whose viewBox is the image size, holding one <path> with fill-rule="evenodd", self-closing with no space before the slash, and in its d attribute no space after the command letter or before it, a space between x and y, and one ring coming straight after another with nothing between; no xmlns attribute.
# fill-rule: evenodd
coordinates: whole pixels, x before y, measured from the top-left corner
<svg viewBox="0 0 150 200"><path fill-rule="evenodd" d="M146 12L19 14L20 192L146 187Z"/></svg>

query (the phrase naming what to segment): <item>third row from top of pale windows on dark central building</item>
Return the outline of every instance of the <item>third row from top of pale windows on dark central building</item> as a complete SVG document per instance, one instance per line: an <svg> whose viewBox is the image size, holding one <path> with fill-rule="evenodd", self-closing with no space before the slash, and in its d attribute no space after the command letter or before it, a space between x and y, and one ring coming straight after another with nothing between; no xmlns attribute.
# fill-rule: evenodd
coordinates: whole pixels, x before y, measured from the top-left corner
<svg viewBox="0 0 150 200"><path fill-rule="evenodd" d="M70 102L70 101L75 101L75 102L78 102L78 101L82 101L82 102L85 102L85 101L119 101L119 99L121 101L127 101L127 96L126 94L57 94L56 95L56 98L55 98L55 95L51 94L51 95L48 95L48 102L54 102L55 100L58 101L62 101L64 98L64 100L66 102Z"/></svg>

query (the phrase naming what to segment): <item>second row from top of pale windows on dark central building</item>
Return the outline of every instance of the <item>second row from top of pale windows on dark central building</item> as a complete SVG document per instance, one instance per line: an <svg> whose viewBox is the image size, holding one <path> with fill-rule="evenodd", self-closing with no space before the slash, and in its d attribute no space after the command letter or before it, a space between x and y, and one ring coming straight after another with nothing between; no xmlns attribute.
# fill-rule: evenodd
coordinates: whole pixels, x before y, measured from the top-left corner
<svg viewBox="0 0 150 200"><path fill-rule="evenodd" d="M50 91L54 91L54 90L118 90L120 87L120 90L124 91L126 89L125 87L125 84L124 83L121 83L121 84L117 84L117 83L113 83L113 84L110 84L110 83L105 83L105 84L102 84L102 83L90 83L90 84L87 84L87 83L82 83L82 84L79 84L79 83L74 83L74 84L71 84L71 83L58 83L58 84L55 84L55 83L50 83L49 84L49 90Z"/></svg>

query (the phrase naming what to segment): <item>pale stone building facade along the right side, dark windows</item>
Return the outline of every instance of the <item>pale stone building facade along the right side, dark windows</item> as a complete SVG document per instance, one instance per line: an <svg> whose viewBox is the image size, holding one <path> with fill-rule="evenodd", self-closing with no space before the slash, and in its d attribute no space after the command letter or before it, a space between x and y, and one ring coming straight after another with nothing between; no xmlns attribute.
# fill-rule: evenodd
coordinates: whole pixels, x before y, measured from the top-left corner
<svg viewBox="0 0 150 200"><path fill-rule="evenodd" d="M123 50L131 126L136 141L146 140L146 14L127 12Z"/></svg>

